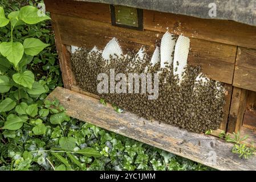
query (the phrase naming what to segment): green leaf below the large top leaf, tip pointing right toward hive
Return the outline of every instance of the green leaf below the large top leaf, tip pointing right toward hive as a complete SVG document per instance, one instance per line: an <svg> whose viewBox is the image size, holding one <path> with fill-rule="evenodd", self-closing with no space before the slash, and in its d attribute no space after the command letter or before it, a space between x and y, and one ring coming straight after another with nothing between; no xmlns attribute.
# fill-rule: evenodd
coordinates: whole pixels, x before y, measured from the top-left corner
<svg viewBox="0 0 256 182"><path fill-rule="evenodd" d="M23 42L24 52L26 55L35 56L50 44L44 44L41 40L35 38L27 38Z"/></svg>

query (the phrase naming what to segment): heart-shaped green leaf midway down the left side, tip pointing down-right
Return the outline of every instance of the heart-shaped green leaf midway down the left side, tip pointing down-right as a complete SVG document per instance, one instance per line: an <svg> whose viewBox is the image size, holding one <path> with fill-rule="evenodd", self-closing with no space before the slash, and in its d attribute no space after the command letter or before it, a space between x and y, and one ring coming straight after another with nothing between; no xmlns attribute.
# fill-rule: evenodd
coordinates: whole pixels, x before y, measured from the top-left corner
<svg viewBox="0 0 256 182"><path fill-rule="evenodd" d="M23 73L15 73L13 75L13 80L19 85L32 89L35 76L31 71L25 71Z"/></svg>

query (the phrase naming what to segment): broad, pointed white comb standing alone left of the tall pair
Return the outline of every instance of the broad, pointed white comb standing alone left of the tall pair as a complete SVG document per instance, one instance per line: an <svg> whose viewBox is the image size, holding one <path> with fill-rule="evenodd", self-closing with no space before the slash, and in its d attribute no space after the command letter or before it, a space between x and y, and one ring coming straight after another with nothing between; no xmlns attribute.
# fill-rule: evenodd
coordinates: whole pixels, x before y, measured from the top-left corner
<svg viewBox="0 0 256 182"><path fill-rule="evenodd" d="M102 57L104 60L109 61L110 55L116 58L116 56L120 57L123 54L123 51L121 47L119 46L119 43L116 38L111 39L107 45L105 46Z"/></svg>

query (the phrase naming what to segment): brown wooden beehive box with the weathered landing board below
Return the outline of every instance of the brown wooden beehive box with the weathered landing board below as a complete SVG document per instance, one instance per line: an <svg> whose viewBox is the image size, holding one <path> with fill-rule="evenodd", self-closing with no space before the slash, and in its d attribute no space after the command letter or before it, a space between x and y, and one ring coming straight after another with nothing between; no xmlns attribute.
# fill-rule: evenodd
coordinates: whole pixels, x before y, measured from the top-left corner
<svg viewBox="0 0 256 182"><path fill-rule="evenodd" d="M231 153L232 144L218 139L221 131L241 131L242 135L249 135L248 144L256 141L256 18L245 18L247 7L237 11L241 16L229 16L218 5L220 16L210 18L210 8L204 4L193 5L186 11L187 6L182 3L174 6L160 0L145 5L126 1L115 5L109 5L112 1L44 2L51 13L65 88L55 89L48 98L58 98L69 115L214 168L256 169L255 157L240 159ZM198 6L200 12L206 13L199 14ZM225 116L213 136L164 123L144 124L144 119L131 113L117 114L111 106L100 105L99 97L84 92L76 84L70 46L91 49L96 45L103 49L115 37L124 48L138 50L144 45L151 50L166 30L188 36L188 63L200 64L208 77L225 83ZM217 156L216 163L209 162L211 151Z"/></svg>

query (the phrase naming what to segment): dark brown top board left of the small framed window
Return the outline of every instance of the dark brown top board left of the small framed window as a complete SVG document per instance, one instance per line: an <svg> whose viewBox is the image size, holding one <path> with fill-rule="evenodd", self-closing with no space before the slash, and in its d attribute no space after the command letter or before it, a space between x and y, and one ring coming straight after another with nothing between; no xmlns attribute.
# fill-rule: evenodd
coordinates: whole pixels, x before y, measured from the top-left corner
<svg viewBox="0 0 256 182"><path fill-rule="evenodd" d="M109 5L103 3L79 2L70 0L44 0L50 13L76 16L111 23Z"/></svg>

